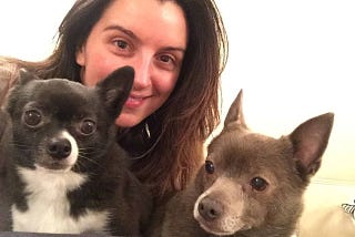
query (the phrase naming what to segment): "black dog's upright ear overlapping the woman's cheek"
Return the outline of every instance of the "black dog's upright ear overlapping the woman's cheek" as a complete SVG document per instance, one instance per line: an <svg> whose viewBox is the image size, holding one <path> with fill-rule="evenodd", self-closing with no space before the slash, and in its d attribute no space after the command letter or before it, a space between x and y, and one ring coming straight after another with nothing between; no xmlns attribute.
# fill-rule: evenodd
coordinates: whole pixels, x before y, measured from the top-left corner
<svg viewBox="0 0 355 237"><path fill-rule="evenodd" d="M134 70L123 66L110 73L98 83L97 90L108 113L116 117L130 95L133 85Z"/></svg>

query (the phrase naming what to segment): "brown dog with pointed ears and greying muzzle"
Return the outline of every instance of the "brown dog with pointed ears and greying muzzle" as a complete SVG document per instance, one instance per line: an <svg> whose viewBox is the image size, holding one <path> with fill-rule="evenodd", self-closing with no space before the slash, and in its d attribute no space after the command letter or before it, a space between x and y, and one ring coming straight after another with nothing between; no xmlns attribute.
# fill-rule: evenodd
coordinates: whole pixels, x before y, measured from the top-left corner
<svg viewBox="0 0 355 237"><path fill-rule="evenodd" d="M313 117L278 140L253 133L244 122L241 91L209 145L205 166L171 199L150 235L291 236L333 120L333 113Z"/></svg>

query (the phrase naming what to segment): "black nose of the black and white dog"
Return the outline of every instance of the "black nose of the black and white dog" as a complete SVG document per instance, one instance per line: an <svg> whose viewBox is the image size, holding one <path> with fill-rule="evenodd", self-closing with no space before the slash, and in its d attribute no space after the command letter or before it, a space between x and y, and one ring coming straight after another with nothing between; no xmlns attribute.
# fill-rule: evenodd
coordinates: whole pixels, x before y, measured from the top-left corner
<svg viewBox="0 0 355 237"><path fill-rule="evenodd" d="M67 138L51 138L47 144L47 153L54 159L64 159L71 153L70 142Z"/></svg>

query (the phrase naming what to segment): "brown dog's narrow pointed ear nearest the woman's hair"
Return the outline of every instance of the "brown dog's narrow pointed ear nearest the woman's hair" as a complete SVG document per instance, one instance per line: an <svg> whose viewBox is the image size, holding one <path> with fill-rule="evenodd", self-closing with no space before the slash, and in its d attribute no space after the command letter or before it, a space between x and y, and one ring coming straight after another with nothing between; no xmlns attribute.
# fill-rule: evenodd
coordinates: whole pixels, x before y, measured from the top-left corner
<svg viewBox="0 0 355 237"><path fill-rule="evenodd" d="M235 130L237 127L247 128L244 121L242 101L243 90L240 91L230 106L229 113L224 120L224 130Z"/></svg>

